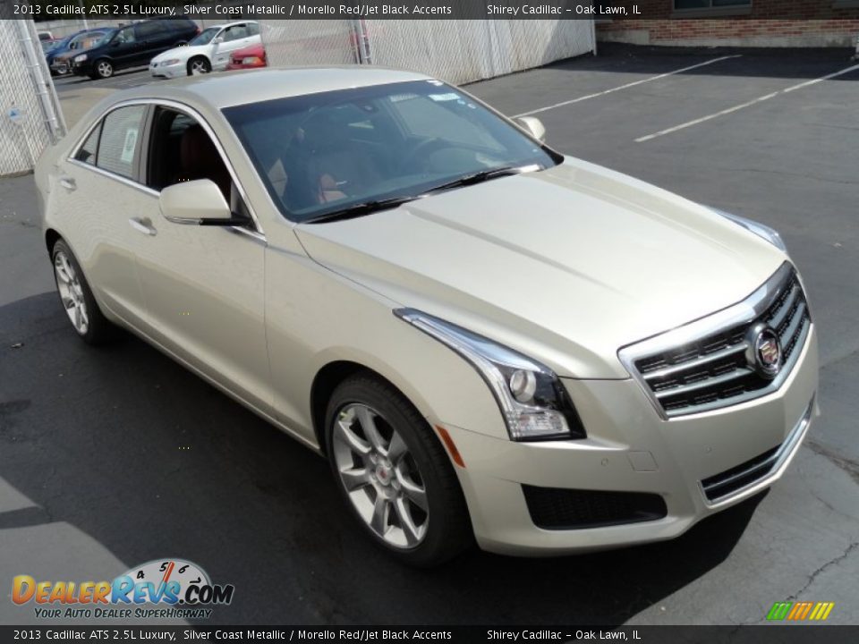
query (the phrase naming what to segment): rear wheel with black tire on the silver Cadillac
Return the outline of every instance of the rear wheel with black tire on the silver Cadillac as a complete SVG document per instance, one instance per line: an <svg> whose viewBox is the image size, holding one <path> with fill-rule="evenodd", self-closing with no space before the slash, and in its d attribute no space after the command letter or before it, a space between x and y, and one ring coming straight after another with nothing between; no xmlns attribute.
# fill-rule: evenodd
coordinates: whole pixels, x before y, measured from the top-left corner
<svg viewBox="0 0 859 644"><path fill-rule="evenodd" d="M51 261L60 303L75 333L88 344L105 344L113 340L116 326L98 308L81 265L63 240L57 240L54 244Z"/></svg>

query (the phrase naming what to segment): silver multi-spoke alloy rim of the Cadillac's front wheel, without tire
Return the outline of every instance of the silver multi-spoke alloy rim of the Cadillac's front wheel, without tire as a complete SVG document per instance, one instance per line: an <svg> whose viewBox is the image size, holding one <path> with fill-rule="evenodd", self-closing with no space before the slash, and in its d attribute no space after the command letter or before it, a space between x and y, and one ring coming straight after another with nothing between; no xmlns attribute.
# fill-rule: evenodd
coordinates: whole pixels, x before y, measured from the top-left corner
<svg viewBox="0 0 859 644"><path fill-rule="evenodd" d="M333 452L346 494L370 530L388 546L420 544L429 526L426 485L396 429L365 404L344 405Z"/></svg>

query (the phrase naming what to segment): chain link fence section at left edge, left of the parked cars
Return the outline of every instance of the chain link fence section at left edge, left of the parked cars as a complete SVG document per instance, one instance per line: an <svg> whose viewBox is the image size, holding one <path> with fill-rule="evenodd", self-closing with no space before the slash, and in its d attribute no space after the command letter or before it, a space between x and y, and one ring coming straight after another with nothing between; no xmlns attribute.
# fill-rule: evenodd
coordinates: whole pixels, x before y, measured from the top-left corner
<svg viewBox="0 0 859 644"><path fill-rule="evenodd" d="M0 18L11 7L0 2ZM54 83L33 21L0 20L0 176L32 170L48 145L65 134Z"/></svg>

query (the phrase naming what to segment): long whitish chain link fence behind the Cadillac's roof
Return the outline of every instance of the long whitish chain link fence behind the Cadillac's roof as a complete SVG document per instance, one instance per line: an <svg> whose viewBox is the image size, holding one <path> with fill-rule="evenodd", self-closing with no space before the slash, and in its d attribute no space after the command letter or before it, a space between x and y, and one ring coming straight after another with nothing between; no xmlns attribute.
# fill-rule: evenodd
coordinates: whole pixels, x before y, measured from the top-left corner
<svg viewBox="0 0 859 644"><path fill-rule="evenodd" d="M378 64L453 83L596 52L586 20L262 22L271 65Z"/></svg>

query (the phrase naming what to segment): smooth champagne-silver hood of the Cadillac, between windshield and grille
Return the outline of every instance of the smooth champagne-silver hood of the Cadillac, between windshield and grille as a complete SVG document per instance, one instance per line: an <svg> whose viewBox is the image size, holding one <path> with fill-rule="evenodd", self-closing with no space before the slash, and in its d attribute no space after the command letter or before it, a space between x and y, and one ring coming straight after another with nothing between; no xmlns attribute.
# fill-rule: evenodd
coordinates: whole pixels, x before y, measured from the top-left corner
<svg viewBox="0 0 859 644"><path fill-rule="evenodd" d="M295 233L332 271L566 377L628 377L620 347L744 299L786 259L709 208L573 159Z"/></svg>

